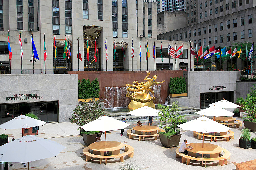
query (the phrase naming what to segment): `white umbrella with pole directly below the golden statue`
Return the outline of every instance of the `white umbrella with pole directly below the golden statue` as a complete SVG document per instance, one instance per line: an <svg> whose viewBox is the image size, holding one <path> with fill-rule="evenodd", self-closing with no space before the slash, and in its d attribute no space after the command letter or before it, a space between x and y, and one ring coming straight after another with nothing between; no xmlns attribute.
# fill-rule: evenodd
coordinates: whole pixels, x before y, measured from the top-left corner
<svg viewBox="0 0 256 170"><path fill-rule="evenodd" d="M157 112L159 112L159 110L156 110L149 106L143 106L141 108L130 111L128 114L131 114L134 116L145 116L145 118L146 118L145 125L147 128L147 116L157 116Z"/></svg>

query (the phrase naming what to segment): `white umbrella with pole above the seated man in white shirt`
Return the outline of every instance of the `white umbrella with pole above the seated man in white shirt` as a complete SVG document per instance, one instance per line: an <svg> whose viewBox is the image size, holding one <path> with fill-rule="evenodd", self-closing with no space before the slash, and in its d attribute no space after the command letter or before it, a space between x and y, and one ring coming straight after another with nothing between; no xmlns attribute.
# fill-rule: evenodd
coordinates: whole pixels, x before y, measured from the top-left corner
<svg viewBox="0 0 256 170"><path fill-rule="evenodd" d="M177 125L183 130L190 130L196 132L202 132L203 134L203 147L204 147L204 133L211 132L227 132L229 127L215 122L207 117L198 117L197 119L191 120L189 122Z"/></svg>

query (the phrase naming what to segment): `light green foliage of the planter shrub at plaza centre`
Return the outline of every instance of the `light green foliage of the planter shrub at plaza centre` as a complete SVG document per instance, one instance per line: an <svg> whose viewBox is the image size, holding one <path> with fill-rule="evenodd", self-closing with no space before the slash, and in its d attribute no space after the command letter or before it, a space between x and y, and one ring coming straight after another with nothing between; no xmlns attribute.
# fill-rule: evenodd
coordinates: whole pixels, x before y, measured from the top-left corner
<svg viewBox="0 0 256 170"><path fill-rule="evenodd" d="M164 133L169 132L172 134L176 134L176 126L184 118L184 116L178 113L181 110L181 108L178 107L178 101L174 101L172 103L172 108L166 107L162 104L158 104L157 106L158 109L161 109L157 113L159 118L156 118L156 121L159 120L159 127L165 130ZM171 123L171 125L167 125L168 123Z"/></svg>

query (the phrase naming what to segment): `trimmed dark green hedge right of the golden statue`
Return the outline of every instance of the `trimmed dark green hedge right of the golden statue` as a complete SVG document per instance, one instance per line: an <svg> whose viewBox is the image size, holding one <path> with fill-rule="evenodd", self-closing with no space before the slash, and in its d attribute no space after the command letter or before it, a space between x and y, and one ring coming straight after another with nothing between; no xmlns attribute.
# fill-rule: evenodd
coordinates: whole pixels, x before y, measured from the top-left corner
<svg viewBox="0 0 256 170"><path fill-rule="evenodd" d="M169 91L170 94L187 93L185 78L170 78Z"/></svg>

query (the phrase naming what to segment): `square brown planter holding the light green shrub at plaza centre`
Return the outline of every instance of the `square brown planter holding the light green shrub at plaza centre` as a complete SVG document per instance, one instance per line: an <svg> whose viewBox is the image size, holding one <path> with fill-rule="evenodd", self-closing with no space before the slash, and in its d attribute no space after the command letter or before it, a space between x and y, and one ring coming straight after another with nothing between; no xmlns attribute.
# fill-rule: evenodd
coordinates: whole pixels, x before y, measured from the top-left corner
<svg viewBox="0 0 256 170"><path fill-rule="evenodd" d="M180 137L181 137L180 133L176 133L176 135L168 136L168 137L163 135L162 133L159 133L161 144L167 148L178 146Z"/></svg>

